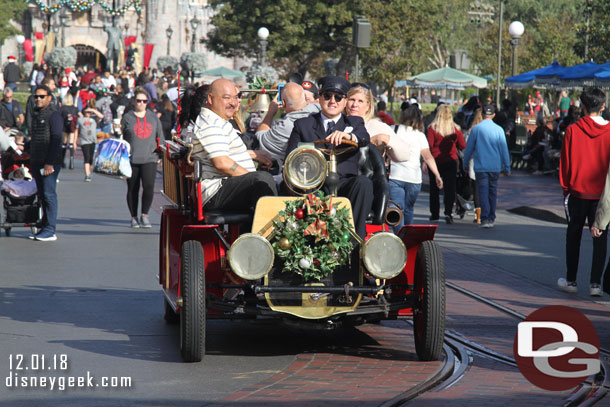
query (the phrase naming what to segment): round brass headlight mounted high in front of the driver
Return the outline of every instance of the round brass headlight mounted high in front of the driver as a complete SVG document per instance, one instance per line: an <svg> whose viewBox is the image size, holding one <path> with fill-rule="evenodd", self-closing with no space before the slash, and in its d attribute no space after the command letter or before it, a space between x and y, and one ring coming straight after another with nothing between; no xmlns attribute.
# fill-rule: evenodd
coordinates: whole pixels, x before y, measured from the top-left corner
<svg viewBox="0 0 610 407"><path fill-rule="evenodd" d="M315 190L326 179L326 158L315 147L301 147L292 151L284 163L284 180L291 188Z"/></svg>

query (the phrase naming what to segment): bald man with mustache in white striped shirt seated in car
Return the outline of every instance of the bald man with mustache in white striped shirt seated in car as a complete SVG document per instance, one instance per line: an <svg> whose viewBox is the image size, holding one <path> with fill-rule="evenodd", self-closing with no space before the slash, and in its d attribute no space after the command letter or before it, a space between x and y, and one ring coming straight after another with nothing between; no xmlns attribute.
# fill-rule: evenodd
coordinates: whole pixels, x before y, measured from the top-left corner
<svg viewBox="0 0 610 407"><path fill-rule="evenodd" d="M233 82L215 80L195 121L193 156L203 163L204 210L251 210L260 197L277 195L271 174L256 171L252 161L269 166L269 156L248 150L229 122L240 103Z"/></svg>

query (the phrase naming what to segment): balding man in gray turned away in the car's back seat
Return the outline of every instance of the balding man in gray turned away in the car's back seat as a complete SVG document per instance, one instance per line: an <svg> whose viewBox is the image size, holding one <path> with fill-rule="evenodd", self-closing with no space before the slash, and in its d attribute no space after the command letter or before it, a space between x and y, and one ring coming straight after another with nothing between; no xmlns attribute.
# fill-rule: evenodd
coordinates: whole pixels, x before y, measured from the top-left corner
<svg viewBox="0 0 610 407"><path fill-rule="evenodd" d="M260 143L261 150L271 154L271 157L280 164L280 167L286 156L286 145L295 120L320 111L320 105L305 101L305 94L301 85L292 82L287 83L282 90L282 107L285 112L284 116L273 120L273 116L280 108L277 100L273 100L269 104L269 110L263 122L256 130L256 138Z"/></svg>

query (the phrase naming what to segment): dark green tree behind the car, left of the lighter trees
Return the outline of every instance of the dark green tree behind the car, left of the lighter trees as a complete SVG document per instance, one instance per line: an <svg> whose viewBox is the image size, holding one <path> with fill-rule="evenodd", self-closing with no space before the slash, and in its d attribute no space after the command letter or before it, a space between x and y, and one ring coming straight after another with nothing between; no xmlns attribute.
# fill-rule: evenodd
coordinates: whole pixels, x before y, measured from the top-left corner
<svg viewBox="0 0 610 407"><path fill-rule="evenodd" d="M269 57L289 62L301 73L320 55L350 58L352 19L362 11L362 1L352 0L213 0L211 4L217 13L204 42L212 51L254 57L259 50L257 31L264 26L270 31Z"/></svg>

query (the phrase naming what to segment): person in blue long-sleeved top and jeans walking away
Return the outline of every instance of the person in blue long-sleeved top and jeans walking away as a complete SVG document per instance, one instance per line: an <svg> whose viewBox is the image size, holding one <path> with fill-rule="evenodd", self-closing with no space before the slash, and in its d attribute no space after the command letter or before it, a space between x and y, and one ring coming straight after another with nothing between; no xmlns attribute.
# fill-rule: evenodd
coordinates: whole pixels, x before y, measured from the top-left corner
<svg viewBox="0 0 610 407"><path fill-rule="evenodd" d="M464 150L464 165L474 158L474 172L481 203L481 227L493 228L496 220L498 178L510 175L510 155L502 127L493 122L493 105L483 107L483 121L474 126Z"/></svg>

